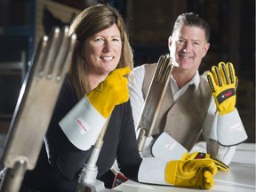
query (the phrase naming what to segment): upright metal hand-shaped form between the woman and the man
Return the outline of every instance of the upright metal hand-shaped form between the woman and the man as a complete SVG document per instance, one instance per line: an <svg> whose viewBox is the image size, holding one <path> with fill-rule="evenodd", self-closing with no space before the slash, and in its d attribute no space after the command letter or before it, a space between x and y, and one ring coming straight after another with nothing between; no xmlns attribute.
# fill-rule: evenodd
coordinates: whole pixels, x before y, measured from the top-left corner
<svg viewBox="0 0 256 192"><path fill-rule="evenodd" d="M160 104L164 98L164 92L170 82L172 69L172 58L169 55L160 56L137 126L137 130L139 131L138 148L140 154L143 152L147 138L152 134Z"/></svg>

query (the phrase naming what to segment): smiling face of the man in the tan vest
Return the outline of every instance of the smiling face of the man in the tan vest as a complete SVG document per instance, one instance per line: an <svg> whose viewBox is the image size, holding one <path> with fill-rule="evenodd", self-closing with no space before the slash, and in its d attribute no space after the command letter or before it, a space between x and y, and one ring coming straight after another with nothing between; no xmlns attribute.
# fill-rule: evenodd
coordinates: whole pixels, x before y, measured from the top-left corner
<svg viewBox="0 0 256 192"><path fill-rule="evenodd" d="M170 55L180 70L195 71L209 49L203 28L181 26L169 37Z"/></svg>

